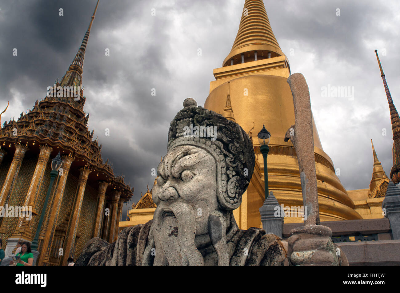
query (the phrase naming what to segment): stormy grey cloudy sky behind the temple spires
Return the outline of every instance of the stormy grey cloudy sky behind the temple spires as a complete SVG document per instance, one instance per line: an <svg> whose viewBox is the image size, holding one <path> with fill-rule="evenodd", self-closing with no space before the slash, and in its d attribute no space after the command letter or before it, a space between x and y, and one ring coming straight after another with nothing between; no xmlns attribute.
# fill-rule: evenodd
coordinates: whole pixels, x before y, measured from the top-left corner
<svg viewBox="0 0 400 293"><path fill-rule="evenodd" d="M301 72L308 82L322 146L340 168L340 180L348 190L368 188L371 138L387 174L392 167L390 114L374 50L380 53L394 104L400 107L400 3L264 3L292 73ZM100 1L84 61L84 110L103 145L103 158L135 187L135 202L154 182L151 169L165 154L169 123L182 101L192 97L204 105L212 70L222 66L236 37L243 4ZM1 123L31 109L64 75L95 5L96 0L0 0L0 108L10 101ZM64 16L59 16L59 8ZM18 56L12 56L13 48ZM110 56L105 56L106 48ZM354 87L354 100L322 97L321 87L328 84ZM152 88L156 96L151 96ZM105 128L110 136L104 135Z"/></svg>

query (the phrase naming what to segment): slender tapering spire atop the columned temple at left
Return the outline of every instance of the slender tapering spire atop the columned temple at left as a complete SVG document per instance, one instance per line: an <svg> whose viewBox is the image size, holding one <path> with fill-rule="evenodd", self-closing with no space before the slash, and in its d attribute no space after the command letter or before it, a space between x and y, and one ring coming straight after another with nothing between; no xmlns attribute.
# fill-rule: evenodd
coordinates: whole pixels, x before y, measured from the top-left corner
<svg viewBox="0 0 400 293"><path fill-rule="evenodd" d="M90 20L88 30L83 37L82 44L80 45L74 60L72 60L68 71L62 77L60 86L82 86L83 60L85 58L86 45L88 44L90 29L92 28L94 16L96 15L98 5L99 0L97 1L96 8L94 8L92 19Z"/></svg>

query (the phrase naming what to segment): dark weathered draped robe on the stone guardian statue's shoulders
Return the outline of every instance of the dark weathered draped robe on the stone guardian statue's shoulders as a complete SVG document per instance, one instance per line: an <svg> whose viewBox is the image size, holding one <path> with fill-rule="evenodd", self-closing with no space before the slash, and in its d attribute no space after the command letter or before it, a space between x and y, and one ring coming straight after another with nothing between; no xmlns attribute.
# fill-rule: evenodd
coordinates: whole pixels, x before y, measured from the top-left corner
<svg viewBox="0 0 400 293"><path fill-rule="evenodd" d="M152 221L122 230L109 244L98 237L86 243L75 265L142 265ZM230 265L284 265L287 242L260 228L240 230L233 216L226 231ZM205 265L218 263L212 245L199 247Z"/></svg>

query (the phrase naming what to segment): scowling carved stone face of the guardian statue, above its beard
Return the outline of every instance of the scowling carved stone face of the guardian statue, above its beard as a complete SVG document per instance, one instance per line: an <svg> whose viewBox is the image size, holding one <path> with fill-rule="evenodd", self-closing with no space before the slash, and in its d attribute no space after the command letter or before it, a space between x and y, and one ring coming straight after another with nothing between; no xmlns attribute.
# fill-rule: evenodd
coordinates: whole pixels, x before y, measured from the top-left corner
<svg viewBox="0 0 400 293"><path fill-rule="evenodd" d="M189 228L179 227L180 222L194 221L193 218L180 221L180 218L194 215L196 235L207 234L208 216L218 209L214 157L195 146L178 146L168 151L157 173L152 199L157 205L154 215L159 215L158 220L169 217L170 221L178 222L179 233Z"/></svg>

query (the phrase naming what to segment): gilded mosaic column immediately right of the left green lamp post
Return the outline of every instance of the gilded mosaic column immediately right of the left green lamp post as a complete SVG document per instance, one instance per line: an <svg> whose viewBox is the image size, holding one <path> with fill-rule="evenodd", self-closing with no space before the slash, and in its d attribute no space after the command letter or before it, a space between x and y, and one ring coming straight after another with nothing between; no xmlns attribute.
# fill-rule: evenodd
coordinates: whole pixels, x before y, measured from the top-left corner
<svg viewBox="0 0 400 293"><path fill-rule="evenodd" d="M44 229L46 230L46 232L43 244L41 245L42 249L39 255L38 265L42 265L43 262L49 260L49 255L58 220L58 213L60 212L62 197L64 195L65 185L67 182L68 172L70 171L71 164L74 161L74 157L72 157L71 155L63 155L61 156L61 158L62 158L62 165L61 165L62 175L60 174L59 176L60 180L58 182L54 199L52 200L50 215L46 217L46 222L44 225Z"/></svg>

